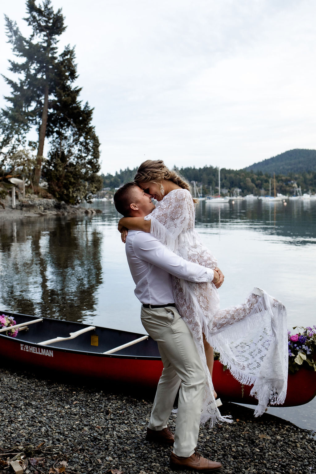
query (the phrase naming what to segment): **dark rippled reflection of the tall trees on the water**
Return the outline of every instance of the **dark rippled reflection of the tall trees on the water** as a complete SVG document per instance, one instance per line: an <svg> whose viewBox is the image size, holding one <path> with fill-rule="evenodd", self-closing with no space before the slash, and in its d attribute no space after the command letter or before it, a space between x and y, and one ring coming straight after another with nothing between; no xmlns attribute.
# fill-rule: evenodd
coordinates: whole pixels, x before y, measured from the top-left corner
<svg viewBox="0 0 316 474"><path fill-rule="evenodd" d="M89 220L5 222L0 238L1 309L81 321L102 283L102 234Z"/></svg>

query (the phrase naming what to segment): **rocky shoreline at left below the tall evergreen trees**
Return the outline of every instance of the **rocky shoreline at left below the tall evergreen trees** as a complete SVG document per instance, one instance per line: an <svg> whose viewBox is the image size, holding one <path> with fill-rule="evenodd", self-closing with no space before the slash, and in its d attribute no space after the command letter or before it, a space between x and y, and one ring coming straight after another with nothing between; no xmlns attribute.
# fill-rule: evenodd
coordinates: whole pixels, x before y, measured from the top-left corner
<svg viewBox="0 0 316 474"><path fill-rule="evenodd" d="M38 198L31 195L26 199L16 201L16 208L12 209L12 200L10 197L2 200L4 208L0 207L0 222L14 219L27 219L30 217L54 217L101 213L98 209L82 208L80 205L70 206L64 202L55 199Z"/></svg>

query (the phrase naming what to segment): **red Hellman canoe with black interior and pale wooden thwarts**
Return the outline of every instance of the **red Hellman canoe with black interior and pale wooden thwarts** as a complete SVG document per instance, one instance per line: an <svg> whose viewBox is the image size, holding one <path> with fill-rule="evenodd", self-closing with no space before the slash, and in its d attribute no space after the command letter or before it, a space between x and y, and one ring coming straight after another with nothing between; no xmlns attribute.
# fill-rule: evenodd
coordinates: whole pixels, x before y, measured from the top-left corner
<svg viewBox="0 0 316 474"><path fill-rule="evenodd" d="M43 374L50 370L147 389L158 383L163 365L157 344L150 337L71 321L3 314L13 316L20 325L17 337L0 330L0 356L10 364L40 369ZM237 382L218 361L214 362L213 383L222 400L256 404L250 396L251 386ZM300 368L289 374L282 406L303 405L315 395L316 372Z"/></svg>

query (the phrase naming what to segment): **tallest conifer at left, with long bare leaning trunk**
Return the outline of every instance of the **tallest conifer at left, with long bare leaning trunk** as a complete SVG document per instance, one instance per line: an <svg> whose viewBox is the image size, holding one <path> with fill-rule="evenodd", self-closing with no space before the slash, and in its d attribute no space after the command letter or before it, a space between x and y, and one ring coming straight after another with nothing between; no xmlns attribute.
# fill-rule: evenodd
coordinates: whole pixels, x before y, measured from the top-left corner
<svg viewBox="0 0 316 474"><path fill-rule="evenodd" d="M39 137L33 182L38 186L46 136L48 100L55 90L57 43L66 27L61 9L54 13L50 0L44 0L42 8L36 6L35 0L27 0L26 5L28 16L24 19L32 28L28 39L21 35L16 22L5 16L9 43L13 53L22 59L22 62L9 61L9 71L21 75L18 82L3 76L12 89L12 96L5 97L11 102L11 106L2 109L5 122L2 129L2 146L11 145L10 151L16 151L20 144L25 144L29 129L33 125L37 126ZM13 139L12 131L15 132Z"/></svg>

